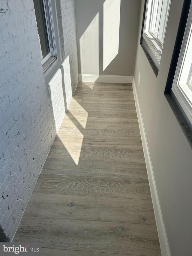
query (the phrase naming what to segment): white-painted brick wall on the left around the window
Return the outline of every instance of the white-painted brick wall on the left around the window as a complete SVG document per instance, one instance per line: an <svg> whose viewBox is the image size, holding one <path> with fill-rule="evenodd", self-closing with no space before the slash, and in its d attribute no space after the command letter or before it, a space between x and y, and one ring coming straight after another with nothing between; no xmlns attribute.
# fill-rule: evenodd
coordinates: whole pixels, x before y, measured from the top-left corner
<svg viewBox="0 0 192 256"><path fill-rule="evenodd" d="M52 79L50 93L41 65L33 1L0 3L0 226L10 240L78 82L74 1L61 0L60 5L70 13L63 22L58 10L62 26L68 26L62 29L71 33L70 39L63 35L59 64L63 68L56 85ZM61 90L65 101L56 104Z"/></svg>

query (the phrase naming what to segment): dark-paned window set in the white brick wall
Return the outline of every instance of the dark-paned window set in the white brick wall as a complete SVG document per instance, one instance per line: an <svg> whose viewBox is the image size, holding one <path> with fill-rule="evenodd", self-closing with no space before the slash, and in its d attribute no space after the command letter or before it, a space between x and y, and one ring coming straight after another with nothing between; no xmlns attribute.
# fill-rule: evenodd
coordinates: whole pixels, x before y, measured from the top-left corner
<svg viewBox="0 0 192 256"><path fill-rule="evenodd" d="M44 70L56 58L50 1L33 0L41 49L41 63Z"/></svg>

